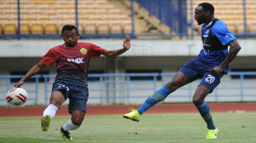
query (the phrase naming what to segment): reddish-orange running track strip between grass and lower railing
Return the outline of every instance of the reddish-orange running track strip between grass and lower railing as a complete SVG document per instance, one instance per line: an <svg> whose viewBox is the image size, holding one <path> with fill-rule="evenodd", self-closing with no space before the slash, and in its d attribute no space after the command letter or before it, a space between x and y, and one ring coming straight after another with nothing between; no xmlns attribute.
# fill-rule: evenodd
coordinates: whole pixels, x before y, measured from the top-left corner
<svg viewBox="0 0 256 143"><path fill-rule="evenodd" d="M211 112L256 112L256 103L209 103ZM86 115L122 115L129 113L129 107L139 105L87 106ZM0 117L27 117L43 115L45 107L2 107ZM162 104L153 106L146 113L197 113L194 104ZM56 116L68 116L68 107L62 106Z"/></svg>

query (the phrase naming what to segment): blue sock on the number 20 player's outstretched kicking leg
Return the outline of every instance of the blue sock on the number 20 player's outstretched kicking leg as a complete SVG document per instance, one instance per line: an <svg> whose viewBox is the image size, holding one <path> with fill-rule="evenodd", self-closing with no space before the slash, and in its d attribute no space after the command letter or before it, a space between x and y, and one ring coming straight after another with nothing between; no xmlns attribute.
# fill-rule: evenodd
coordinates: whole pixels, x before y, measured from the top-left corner
<svg viewBox="0 0 256 143"><path fill-rule="evenodd" d="M165 86L162 87L149 96L149 98L146 99L146 101L137 109L137 111L140 115L142 115L147 109L151 108L158 102L163 101L169 94L171 94L171 91Z"/></svg>

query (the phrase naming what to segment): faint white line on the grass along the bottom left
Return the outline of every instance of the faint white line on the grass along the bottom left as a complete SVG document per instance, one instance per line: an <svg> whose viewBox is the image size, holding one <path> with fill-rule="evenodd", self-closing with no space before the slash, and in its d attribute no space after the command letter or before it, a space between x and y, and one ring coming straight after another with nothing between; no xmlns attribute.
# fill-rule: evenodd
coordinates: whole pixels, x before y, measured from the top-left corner
<svg viewBox="0 0 256 143"><path fill-rule="evenodd" d="M12 138L40 138L46 140L63 140L59 138L44 138L44 137L31 137L31 136L0 136L2 137L12 137ZM100 141L100 140L72 140L72 141L83 141L83 142L104 142L104 143L156 143L156 142L143 142L143 141Z"/></svg>

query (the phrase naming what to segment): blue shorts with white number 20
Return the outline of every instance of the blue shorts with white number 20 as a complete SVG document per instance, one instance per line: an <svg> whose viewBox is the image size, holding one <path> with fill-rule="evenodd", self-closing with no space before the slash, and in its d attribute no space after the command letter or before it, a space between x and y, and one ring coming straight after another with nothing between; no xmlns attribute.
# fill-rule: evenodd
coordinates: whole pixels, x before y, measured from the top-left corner
<svg viewBox="0 0 256 143"><path fill-rule="evenodd" d="M206 86L210 89L210 93L212 93L213 89L221 83L220 80L224 73L213 74L210 72L211 68L213 67L205 67L200 64L198 59L191 59L183 65L179 71L184 73L189 78L190 82L202 77L199 85Z"/></svg>

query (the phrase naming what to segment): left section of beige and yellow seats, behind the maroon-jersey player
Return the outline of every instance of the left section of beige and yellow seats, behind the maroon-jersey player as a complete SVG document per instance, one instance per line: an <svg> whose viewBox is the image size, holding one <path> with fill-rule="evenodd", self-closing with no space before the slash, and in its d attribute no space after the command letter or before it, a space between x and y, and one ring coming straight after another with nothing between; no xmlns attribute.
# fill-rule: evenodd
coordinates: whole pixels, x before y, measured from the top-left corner
<svg viewBox="0 0 256 143"><path fill-rule="evenodd" d="M131 2L107 0L78 1L79 30L82 34L122 34L132 32ZM169 34L171 29L134 2L136 34ZM16 34L17 1L0 1L3 34ZM66 24L75 24L73 0L20 0L21 34L60 34ZM70 22L71 20L71 22ZM12 23L12 24L10 24Z"/></svg>

